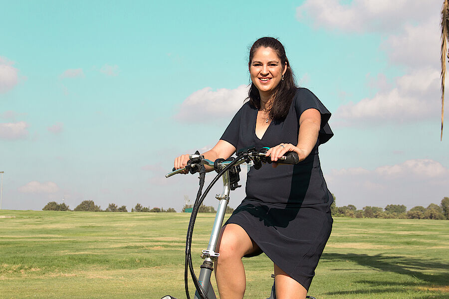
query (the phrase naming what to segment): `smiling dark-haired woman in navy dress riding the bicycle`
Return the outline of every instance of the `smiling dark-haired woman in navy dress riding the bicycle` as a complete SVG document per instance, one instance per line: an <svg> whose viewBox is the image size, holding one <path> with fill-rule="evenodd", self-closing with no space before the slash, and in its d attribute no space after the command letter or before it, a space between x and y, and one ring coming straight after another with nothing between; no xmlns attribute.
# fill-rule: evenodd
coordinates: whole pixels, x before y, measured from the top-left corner
<svg viewBox="0 0 449 299"><path fill-rule="evenodd" d="M232 119L207 159L228 158L236 149L270 147L276 162L295 151L296 165L251 168L246 197L225 223L218 246L216 280L221 299L243 298L242 257L264 252L274 263L276 297L304 299L332 229L318 146L333 133L329 111L309 90L297 88L282 44L262 37L249 52L249 101ZM175 159L186 166L188 155Z"/></svg>

